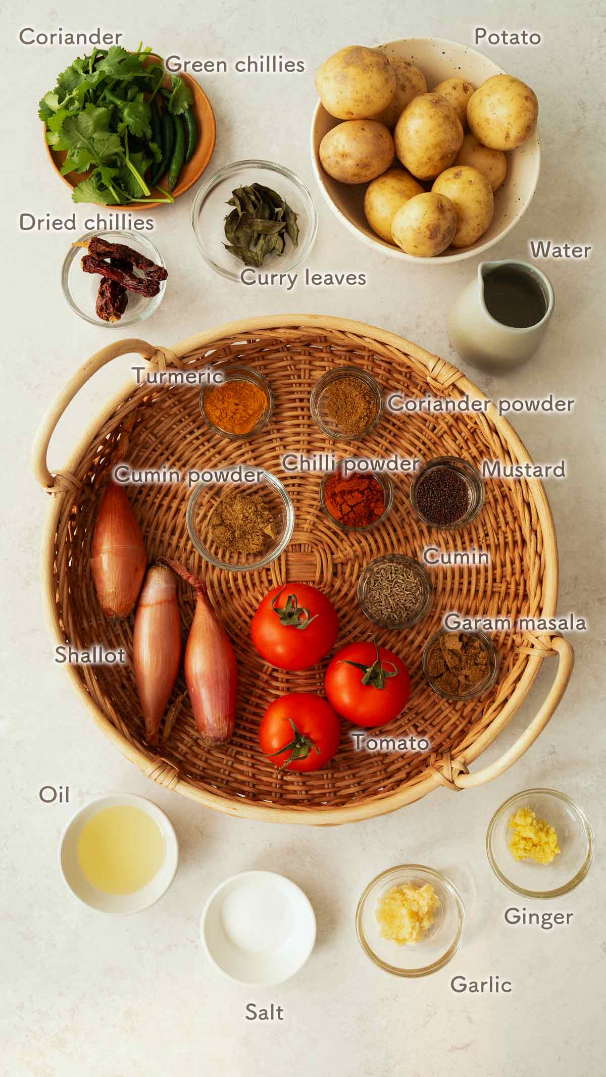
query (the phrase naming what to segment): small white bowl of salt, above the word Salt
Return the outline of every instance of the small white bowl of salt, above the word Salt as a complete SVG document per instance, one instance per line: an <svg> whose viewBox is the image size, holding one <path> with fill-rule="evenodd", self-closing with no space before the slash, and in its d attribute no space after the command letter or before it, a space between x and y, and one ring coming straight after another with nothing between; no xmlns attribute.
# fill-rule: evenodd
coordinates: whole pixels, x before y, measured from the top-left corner
<svg viewBox="0 0 606 1077"><path fill-rule="evenodd" d="M200 937L210 963L228 980L271 987L305 965L315 942L315 915L290 879L242 871L209 897Z"/></svg>

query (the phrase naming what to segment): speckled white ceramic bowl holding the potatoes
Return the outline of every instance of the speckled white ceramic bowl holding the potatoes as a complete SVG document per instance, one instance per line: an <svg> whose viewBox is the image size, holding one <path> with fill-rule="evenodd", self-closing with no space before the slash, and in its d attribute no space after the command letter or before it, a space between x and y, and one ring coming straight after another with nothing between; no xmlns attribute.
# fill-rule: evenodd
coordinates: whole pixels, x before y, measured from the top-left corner
<svg viewBox="0 0 606 1077"><path fill-rule="evenodd" d="M401 41L391 41L389 44L378 47L382 48L387 56L401 56L412 60L425 75L427 90L433 89L439 82L451 75L460 74L478 87L491 75L503 73L503 68L475 48L461 45L455 41L442 41L440 38L406 38ZM422 262L433 265L460 262L462 258L482 254L510 232L532 201L540 170L540 141L537 130L527 142L508 153L507 177L494 196L494 216L491 226L476 243L463 249L451 247L435 258L419 258L411 254L405 254L399 247L381 239L368 224L364 214L364 194L367 184L356 183L348 186L344 183L338 183L322 168L320 143L326 132L339 123L341 121L329 115L322 102L319 101L311 124L311 159L315 178L322 194L341 224L344 224L346 228L354 233L363 242L380 250L383 254L391 254L405 262ZM394 162L394 167L396 165L397 158Z"/></svg>

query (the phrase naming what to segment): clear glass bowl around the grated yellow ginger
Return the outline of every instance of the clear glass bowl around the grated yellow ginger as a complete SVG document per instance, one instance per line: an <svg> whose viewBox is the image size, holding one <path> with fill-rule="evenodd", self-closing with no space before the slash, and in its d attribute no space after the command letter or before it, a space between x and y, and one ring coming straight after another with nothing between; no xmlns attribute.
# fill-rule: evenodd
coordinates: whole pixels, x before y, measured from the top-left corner
<svg viewBox="0 0 606 1077"><path fill-rule="evenodd" d="M509 849L509 821L520 808L531 808L558 834L560 853L551 864L517 861ZM591 824L581 808L556 789L524 789L501 806L490 821L487 854L497 879L524 897L560 897L584 879L593 862Z"/></svg>

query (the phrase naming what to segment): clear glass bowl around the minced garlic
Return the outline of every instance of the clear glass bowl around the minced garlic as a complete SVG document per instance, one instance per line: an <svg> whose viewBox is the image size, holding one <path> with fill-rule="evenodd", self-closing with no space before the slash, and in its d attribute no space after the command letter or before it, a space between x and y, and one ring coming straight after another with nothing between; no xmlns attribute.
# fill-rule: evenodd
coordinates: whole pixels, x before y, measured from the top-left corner
<svg viewBox="0 0 606 1077"><path fill-rule="evenodd" d="M434 923L417 943L398 946L381 936L376 911L392 886L431 883L439 898ZM465 932L465 907L450 879L420 864L400 864L381 871L368 883L355 913L355 929L362 949L379 968L393 976L419 977L437 973L454 957Z"/></svg>

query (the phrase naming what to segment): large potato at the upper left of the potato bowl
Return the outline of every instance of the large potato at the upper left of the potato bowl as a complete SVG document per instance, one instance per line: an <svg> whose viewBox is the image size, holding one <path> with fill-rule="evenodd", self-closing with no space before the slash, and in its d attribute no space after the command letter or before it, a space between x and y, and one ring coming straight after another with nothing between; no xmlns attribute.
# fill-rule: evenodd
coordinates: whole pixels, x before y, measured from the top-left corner
<svg viewBox="0 0 606 1077"><path fill-rule="evenodd" d="M349 45L319 68L315 88L332 116L366 120L386 109L396 92L396 75L378 48Z"/></svg>

